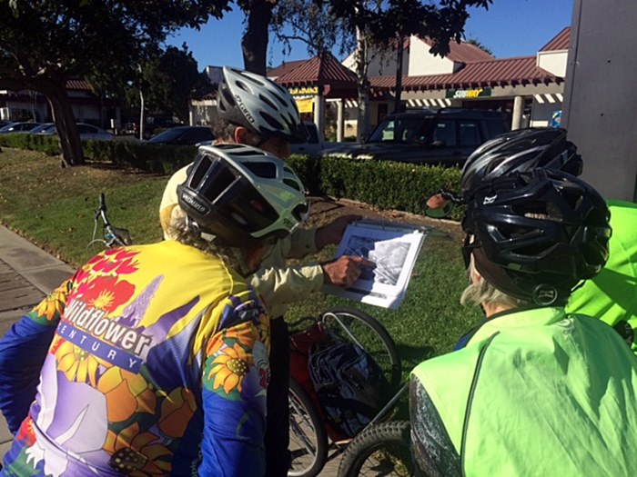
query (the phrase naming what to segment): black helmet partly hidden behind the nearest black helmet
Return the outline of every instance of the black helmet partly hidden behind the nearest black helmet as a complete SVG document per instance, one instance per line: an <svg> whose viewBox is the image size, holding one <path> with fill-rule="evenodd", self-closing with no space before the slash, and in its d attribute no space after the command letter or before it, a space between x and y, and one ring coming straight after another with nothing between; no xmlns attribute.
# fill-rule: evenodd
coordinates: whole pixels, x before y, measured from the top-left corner
<svg viewBox="0 0 637 477"><path fill-rule="evenodd" d="M550 127L519 129L487 141L469 156L462 168L460 194L469 201L473 189L482 181L538 167L580 175L581 164L577 147L566 140L566 130Z"/></svg>

